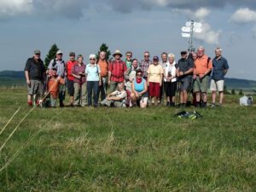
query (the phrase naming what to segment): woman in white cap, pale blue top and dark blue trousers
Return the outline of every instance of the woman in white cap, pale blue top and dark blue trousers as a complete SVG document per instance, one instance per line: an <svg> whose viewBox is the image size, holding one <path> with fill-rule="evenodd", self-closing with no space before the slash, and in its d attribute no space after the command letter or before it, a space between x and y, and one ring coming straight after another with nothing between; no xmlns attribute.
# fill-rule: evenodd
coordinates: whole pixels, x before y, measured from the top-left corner
<svg viewBox="0 0 256 192"><path fill-rule="evenodd" d="M88 106L91 106L91 95L93 91L93 106L98 106L98 90L102 84L101 68L96 64L96 55L89 56L90 63L86 66Z"/></svg>

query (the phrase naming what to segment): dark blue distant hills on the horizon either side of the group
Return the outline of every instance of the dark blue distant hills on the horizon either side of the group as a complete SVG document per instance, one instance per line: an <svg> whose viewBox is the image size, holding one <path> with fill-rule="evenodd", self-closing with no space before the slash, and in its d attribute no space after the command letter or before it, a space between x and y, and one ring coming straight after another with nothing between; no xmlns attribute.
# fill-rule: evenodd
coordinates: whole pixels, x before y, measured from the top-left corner
<svg viewBox="0 0 256 192"><path fill-rule="evenodd" d="M2 71L0 72L0 86L26 84L23 71ZM225 85L228 89L235 90L256 90L256 81L247 79L226 78Z"/></svg>

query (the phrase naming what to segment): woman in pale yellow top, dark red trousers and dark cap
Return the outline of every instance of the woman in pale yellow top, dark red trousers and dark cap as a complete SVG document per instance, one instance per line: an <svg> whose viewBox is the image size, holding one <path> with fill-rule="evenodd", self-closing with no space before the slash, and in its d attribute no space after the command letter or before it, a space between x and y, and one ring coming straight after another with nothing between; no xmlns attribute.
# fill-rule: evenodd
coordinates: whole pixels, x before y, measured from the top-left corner
<svg viewBox="0 0 256 192"><path fill-rule="evenodd" d="M160 105L160 86L162 85L163 67L159 64L159 57L153 57L153 64L148 67L148 86L151 104L157 101ZM156 100L156 101L155 101Z"/></svg>

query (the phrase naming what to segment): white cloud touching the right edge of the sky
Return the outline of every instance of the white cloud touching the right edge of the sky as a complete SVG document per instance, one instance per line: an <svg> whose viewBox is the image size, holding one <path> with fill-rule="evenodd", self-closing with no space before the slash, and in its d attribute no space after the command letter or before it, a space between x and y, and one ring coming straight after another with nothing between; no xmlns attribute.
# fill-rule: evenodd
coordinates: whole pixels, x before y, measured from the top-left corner
<svg viewBox="0 0 256 192"><path fill-rule="evenodd" d="M256 11L248 8L237 9L231 20L237 23L256 22Z"/></svg>

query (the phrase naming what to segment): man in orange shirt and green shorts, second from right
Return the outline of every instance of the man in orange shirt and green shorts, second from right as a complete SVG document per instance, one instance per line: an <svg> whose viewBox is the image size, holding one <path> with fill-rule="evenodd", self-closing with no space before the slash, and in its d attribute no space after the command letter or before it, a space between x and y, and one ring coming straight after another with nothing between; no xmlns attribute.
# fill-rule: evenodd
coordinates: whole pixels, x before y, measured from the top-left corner
<svg viewBox="0 0 256 192"><path fill-rule="evenodd" d="M212 60L205 55L204 47L197 49L197 58L194 61L194 86L196 107L207 107L207 87L209 75L212 72Z"/></svg>

